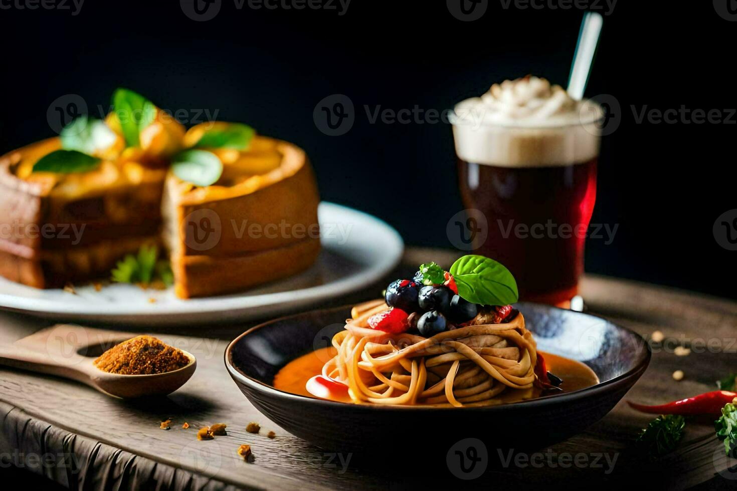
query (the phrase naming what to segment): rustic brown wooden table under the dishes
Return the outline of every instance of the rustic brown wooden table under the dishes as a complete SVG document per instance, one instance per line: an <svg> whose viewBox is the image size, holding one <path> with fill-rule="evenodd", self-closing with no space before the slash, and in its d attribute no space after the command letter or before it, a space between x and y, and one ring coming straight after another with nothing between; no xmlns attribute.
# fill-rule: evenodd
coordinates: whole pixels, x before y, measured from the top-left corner
<svg viewBox="0 0 737 491"><path fill-rule="evenodd" d="M408 250L392 277L410 275L417 264L431 258L449 264L453 252ZM382 287L368 286L347 300L376 297ZM666 342L652 345L652 363L628 398L663 403L712 390L717 379L737 371L737 303L596 276L584 278L581 287L590 312L646 338L653 331L666 335ZM332 304L341 301L346 303L341 299ZM10 322L6 317L0 321ZM65 486L85 489L143 485L161 489L433 489L441 484L452 489L505 489L525 484L657 484L658 488L684 489L704 483L726 489L737 483L737 473L727 469L736 462L723 456L708 419L689 421L677 451L661 462L643 462L632 442L652 418L632 411L624 402L578 436L542 449L539 455L515 454L507 465L509 455L498 455L492 442L487 442L489 465L473 481L461 481L447 468L406 469L402 462L384 462L382 456L325 452L270 423L231 381L223 366L223 350L245 327L158 333L164 341L198 358L192 379L163 399L115 400L71 381L0 368L0 464L7 467L12 461ZM7 325L0 331L7 335ZM691 347L691 353L676 356L674 347L679 345ZM674 370L683 370L685 378L674 381ZM167 417L172 419L171 429L163 431L159 422ZM245 431L251 421L261 424L262 434ZM181 428L184 422L189 429ZM228 436L199 442L197 428L212 423L227 423ZM440 423L439 428L447 428ZM445 431L452 431L452 425L459 422L448 423L451 429ZM276 439L264 436L269 430L276 432ZM237 456L242 443L251 445L255 462L243 462ZM388 444L392 444L391 435ZM408 452L423 451L429 450L408 448Z"/></svg>

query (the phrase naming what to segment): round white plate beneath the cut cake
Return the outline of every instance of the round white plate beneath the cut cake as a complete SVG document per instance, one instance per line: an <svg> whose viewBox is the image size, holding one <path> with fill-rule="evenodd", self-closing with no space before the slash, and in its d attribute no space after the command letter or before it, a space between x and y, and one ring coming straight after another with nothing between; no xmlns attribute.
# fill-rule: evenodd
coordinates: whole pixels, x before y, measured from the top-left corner
<svg viewBox="0 0 737 491"><path fill-rule="evenodd" d="M318 208L323 250L299 275L240 294L181 300L172 289L128 284L39 290L0 278L0 308L58 321L192 324L255 319L293 311L355 292L379 280L402 257L397 230L361 211L322 202ZM155 301L152 299L156 299Z"/></svg>

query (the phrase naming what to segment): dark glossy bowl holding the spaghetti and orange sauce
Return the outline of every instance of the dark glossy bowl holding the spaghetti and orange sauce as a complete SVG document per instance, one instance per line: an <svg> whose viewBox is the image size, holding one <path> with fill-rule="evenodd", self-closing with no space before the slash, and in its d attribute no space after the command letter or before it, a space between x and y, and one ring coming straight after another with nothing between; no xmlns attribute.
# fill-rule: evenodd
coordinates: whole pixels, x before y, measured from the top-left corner
<svg viewBox="0 0 737 491"><path fill-rule="evenodd" d="M226 367L245 397L290 433L331 451L391 448L481 439L495 448L542 448L604 417L638 381L650 349L638 334L600 317L547 305L519 303L539 350L587 364L600 383L573 392L501 406L435 408L336 403L274 389L284 364L324 347L343 328L350 308L284 317L245 331L228 345Z"/></svg>

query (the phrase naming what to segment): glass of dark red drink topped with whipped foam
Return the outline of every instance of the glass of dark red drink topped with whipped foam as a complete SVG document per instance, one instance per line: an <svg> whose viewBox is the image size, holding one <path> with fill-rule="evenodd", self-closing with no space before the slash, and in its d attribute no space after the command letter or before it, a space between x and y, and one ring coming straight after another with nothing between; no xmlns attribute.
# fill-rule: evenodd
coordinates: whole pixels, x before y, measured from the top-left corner
<svg viewBox="0 0 737 491"><path fill-rule="evenodd" d="M602 115L537 77L455 107L461 197L486 222L469 249L504 264L520 300L565 306L578 293Z"/></svg>

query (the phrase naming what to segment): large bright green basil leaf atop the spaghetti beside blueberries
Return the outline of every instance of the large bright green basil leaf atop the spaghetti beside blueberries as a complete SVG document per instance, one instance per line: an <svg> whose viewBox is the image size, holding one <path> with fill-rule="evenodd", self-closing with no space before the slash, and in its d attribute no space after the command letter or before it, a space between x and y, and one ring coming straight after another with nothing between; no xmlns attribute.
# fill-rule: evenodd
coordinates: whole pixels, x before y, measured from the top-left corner
<svg viewBox="0 0 737 491"><path fill-rule="evenodd" d="M509 269L483 255L464 255L450 266L458 295L481 305L508 305L519 300L517 282Z"/></svg>

